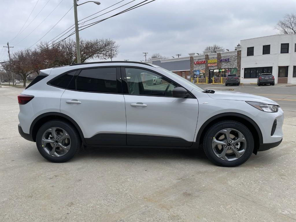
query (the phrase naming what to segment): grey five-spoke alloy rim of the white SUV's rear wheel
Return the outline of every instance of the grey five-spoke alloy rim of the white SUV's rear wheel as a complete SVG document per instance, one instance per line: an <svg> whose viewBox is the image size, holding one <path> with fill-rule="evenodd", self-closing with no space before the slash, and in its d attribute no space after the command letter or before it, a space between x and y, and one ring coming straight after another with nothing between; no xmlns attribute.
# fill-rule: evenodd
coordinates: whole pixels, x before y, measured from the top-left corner
<svg viewBox="0 0 296 222"><path fill-rule="evenodd" d="M64 129L51 127L43 133L42 147L50 156L61 157L69 151L71 139Z"/></svg>

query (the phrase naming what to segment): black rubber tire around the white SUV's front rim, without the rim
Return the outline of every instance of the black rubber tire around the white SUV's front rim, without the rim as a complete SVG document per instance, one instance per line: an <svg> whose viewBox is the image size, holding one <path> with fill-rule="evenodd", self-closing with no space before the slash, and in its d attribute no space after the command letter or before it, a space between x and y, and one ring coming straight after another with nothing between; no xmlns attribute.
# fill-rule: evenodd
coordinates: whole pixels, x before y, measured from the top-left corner
<svg viewBox="0 0 296 222"><path fill-rule="evenodd" d="M233 160L233 161L221 160L215 155L212 149L213 137L215 136L216 133L226 128L231 128L231 129L240 131L244 135L247 141L247 148L246 148L246 151L244 152L244 155L242 155L242 157L240 157L237 160ZM225 121L215 123L213 126L211 126L207 130L207 133L205 134L205 139L203 142L203 147L205 150L205 154L213 163L219 166L233 167L233 166L238 166L243 164L250 158L254 149L254 139L250 130L246 126L244 126L242 123L239 123L233 120L225 120Z"/></svg>

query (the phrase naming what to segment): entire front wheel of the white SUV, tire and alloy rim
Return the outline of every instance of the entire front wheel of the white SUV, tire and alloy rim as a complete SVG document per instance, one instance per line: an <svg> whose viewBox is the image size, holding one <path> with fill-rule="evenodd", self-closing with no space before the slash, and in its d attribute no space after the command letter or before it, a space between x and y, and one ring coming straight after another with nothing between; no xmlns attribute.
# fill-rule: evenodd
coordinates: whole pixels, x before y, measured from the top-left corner
<svg viewBox="0 0 296 222"><path fill-rule="evenodd" d="M250 158L254 139L250 130L242 123L225 120L215 123L207 130L203 147L213 163L233 167Z"/></svg>

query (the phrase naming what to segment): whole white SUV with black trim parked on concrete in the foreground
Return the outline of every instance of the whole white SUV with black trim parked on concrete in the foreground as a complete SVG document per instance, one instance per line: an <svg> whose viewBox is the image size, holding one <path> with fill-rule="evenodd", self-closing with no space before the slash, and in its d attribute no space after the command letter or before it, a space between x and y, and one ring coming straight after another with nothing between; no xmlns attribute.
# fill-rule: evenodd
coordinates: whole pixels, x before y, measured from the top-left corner
<svg viewBox="0 0 296 222"><path fill-rule="evenodd" d="M150 84L150 76L162 84ZM149 81L146 81L149 79ZM42 70L18 96L18 126L41 155L65 162L84 146L197 148L221 166L282 141L267 98L203 90L156 65L95 62Z"/></svg>

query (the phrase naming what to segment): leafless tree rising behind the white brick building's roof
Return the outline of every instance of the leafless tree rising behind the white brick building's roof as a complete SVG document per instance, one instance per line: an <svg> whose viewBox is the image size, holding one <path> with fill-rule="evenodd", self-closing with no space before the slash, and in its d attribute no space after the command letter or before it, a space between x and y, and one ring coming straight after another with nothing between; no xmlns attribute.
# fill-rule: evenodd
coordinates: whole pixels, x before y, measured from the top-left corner
<svg viewBox="0 0 296 222"><path fill-rule="evenodd" d="M294 13L286 14L283 20L276 23L275 29L281 34L296 34L296 15Z"/></svg>

